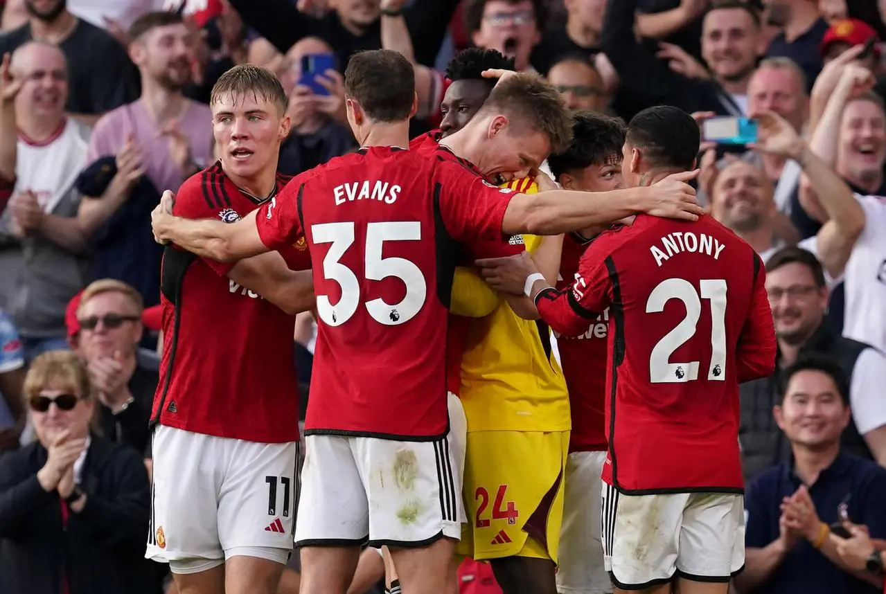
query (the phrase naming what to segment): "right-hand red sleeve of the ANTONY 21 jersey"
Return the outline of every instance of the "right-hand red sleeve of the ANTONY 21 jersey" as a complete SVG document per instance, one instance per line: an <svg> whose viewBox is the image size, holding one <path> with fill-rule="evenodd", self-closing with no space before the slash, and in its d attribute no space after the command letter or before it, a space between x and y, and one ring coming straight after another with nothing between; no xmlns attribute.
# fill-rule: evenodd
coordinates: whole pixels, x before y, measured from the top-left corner
<svg viewBox="0 0 886 594"><path fill-rule="evenodd" d="M754 293L750 297L748 318L744 321L742 334L738 336L735 349L738 382L750 382L775 373L775 357L778 345L775 341L773 312L766 297L766 269L758 255L754 255Z"/></svg>

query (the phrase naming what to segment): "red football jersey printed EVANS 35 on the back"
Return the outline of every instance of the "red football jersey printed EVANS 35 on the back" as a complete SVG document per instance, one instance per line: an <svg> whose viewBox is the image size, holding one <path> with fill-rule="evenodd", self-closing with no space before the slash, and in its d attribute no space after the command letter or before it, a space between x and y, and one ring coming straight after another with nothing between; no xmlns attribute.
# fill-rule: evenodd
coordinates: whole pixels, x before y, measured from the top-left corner
<svg viewBox="0 0 886 594"><path fill-rule="evenodd" d="M307 434L446 435L447 306L462 246L505 242L513 193L468 167L392 147L361 149L292 180L261 207L270 248L304 229L317 342Z"/></svg>

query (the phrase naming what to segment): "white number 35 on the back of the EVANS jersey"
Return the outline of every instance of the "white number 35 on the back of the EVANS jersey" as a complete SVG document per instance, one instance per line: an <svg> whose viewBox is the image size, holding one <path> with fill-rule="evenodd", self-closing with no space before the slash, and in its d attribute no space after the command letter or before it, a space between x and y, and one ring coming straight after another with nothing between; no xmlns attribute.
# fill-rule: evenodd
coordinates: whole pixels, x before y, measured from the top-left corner
<svg viewBox="0 0 886 594"><path fill-rule="evenodd" d="M341 263L342 256L354 243L354 223L321 223L311 226L314 243L331 243L323 258L323 278L338 283L341 297L336 305L330 298L317 293L317 315L328 326L341 326L350 320L361 302L361 282L354 271ZM406 258L382 258L385 242L419 241L422 224L417 220L369 223L366 226L366 250L363 269L368 281L381 281L389 276L397 278L406 287L406 295L399 304L387 304L382 298L363 305L369 316L385 326L396 326L412 320L422 311L428 287L424 274L414 262Z"/></svg>

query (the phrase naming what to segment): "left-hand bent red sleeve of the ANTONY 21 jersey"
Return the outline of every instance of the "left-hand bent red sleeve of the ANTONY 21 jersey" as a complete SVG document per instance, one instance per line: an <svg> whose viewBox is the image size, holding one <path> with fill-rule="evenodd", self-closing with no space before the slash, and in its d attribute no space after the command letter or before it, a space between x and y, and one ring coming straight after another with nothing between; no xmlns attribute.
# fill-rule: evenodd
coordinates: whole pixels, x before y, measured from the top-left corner
<svg viewBox="0 0 886 594"><path fill-rule="evenodd" d="M535 297L542 320L563 336L579 336L588 322L596 320L612 301L609 259L631 235L631 228L608 231L595 239L579 260L579 272L571 287L548 288Z"/></svg>

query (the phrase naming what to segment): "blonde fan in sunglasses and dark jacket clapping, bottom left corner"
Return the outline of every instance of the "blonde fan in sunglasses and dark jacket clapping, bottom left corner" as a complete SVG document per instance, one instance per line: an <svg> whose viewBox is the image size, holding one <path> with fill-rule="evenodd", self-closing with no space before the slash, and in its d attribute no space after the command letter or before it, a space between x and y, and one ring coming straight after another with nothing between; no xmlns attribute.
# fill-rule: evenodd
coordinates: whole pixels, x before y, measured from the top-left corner
<svg viewBox="0 0 886 594"><path fill-rule="evenodd" d="M147 472L96 431L89 371L72 351L43 353L24 393L36 440L0 458L3 590L147 594Z"/></svg>

